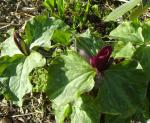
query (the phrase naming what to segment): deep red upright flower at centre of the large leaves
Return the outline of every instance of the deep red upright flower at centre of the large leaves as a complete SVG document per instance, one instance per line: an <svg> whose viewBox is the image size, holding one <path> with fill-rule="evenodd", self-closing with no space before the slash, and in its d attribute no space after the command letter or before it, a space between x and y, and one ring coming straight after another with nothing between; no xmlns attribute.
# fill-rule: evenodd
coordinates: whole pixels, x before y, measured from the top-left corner
<svg viewBox="0 0 150 123"><path fill-rule="evenodd" d="M90 64L93 67L97 68L99 72L102 72L107 68L111 53L112 53L111 46L103 47L96 56L90 58Z"/></svg>

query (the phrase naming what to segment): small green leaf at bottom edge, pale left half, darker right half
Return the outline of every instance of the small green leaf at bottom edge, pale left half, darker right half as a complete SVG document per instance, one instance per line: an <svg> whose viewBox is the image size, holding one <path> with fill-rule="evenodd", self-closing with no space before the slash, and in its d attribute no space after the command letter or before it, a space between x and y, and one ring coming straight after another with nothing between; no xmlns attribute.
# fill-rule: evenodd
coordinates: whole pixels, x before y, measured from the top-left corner
<svg viewBox="0 0 150 123"><path fill-rule="evenodd" d="M100 113L94 99L82 96L72 106L71 123L99 123Z"/></svg>

